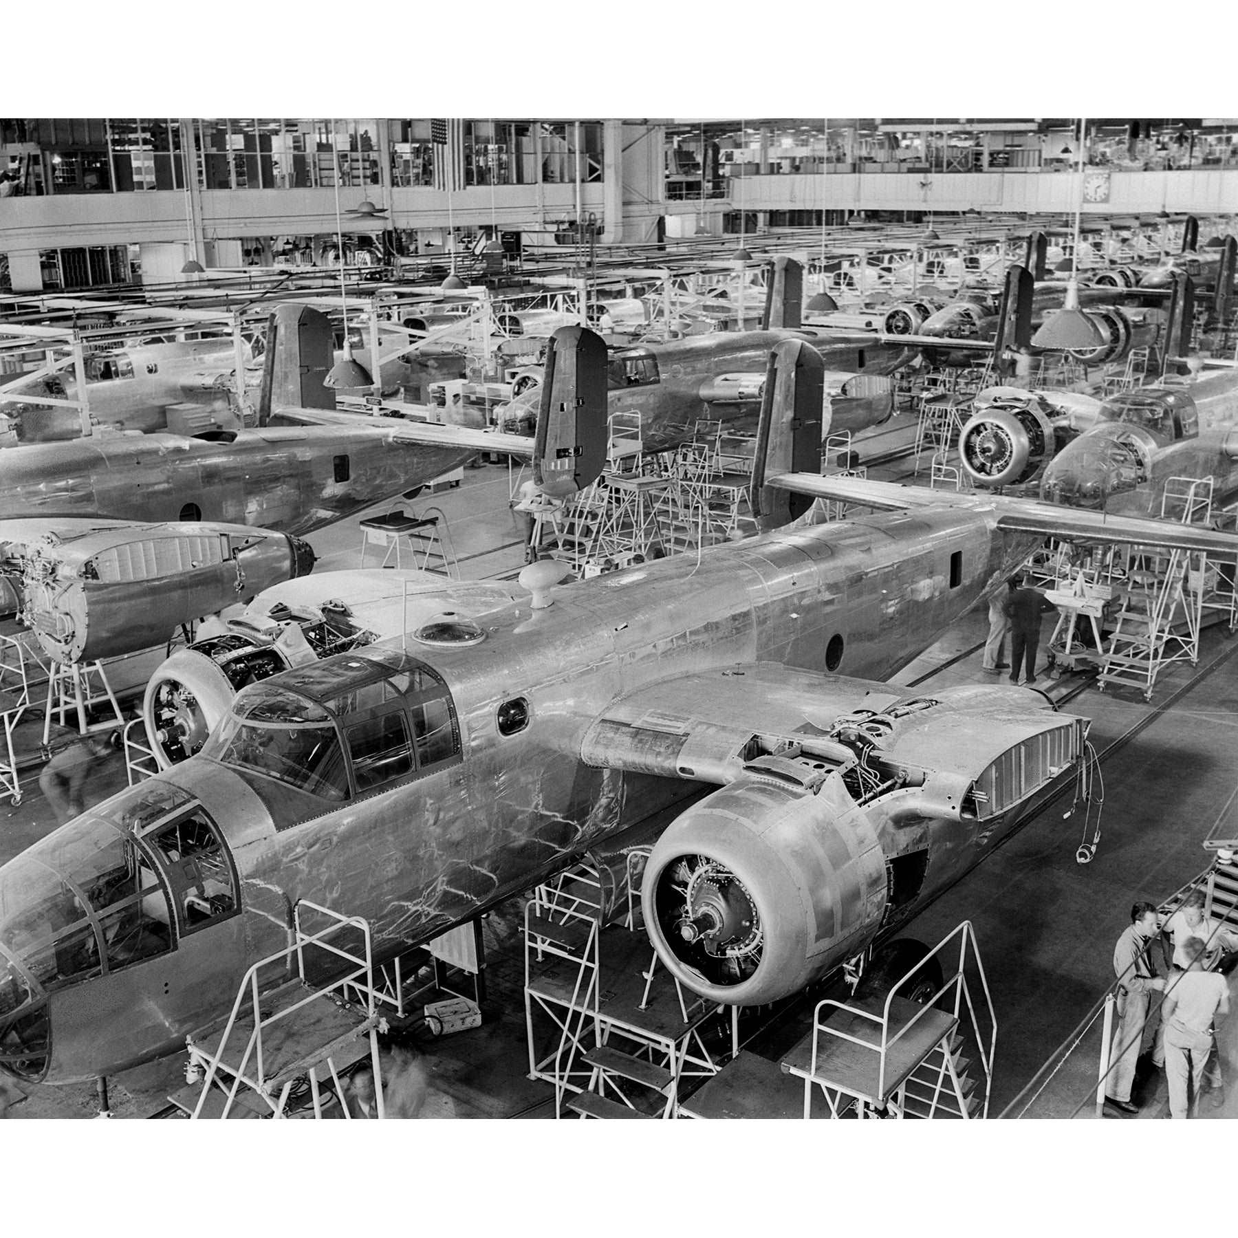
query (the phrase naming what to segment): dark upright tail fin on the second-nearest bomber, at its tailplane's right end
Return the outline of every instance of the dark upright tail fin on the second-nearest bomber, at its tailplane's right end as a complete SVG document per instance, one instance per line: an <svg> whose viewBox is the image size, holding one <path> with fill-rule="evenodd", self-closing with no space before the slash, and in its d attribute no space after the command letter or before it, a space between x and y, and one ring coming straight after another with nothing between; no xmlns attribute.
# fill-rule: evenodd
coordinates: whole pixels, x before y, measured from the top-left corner
<svg viewBox="0 0 1238 1238"><path fill-rule="evenodd" d="M534 479L567 498L592 485L607 462L607 345L587 327L560 327L546 348Z"/></svg>

